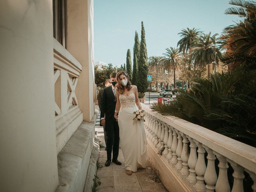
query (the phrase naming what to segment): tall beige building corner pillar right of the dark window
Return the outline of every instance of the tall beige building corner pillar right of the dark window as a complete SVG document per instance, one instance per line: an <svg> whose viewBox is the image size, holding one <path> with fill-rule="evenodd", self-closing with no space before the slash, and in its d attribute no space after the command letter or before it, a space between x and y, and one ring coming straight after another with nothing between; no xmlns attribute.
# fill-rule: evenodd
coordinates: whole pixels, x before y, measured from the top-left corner
<svg viewBox="0 0 256 192"><path fill-rule="evenodd" d="M68 1L68 51L82 65L76 96L84 121L94 115L94 39L92 0Z"/></svg>

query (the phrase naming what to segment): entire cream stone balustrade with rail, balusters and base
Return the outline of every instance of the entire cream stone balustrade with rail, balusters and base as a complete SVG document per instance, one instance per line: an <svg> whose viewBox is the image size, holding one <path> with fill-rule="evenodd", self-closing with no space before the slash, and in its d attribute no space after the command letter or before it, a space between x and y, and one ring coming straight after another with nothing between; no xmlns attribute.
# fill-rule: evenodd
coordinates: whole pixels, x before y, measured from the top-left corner
<svg viewBox="0 0 256 192"><path fill-rule="evenodd" d="M149 160L169 191L244 192L246 172L253 181L251 191L256 192L256 148L180 118L162 116L144 104L142 108ZM228 168L233 170L232 183ZM172 178L183 186L174 187Z"/></svg>

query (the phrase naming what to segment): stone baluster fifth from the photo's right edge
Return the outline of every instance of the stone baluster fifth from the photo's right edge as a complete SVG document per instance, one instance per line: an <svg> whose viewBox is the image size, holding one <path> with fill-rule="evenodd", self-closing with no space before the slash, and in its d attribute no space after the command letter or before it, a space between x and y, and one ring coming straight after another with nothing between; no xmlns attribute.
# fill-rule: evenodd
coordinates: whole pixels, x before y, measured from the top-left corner
<svg viewBox="0 0 256 192"><path fill-rule="evenodd" d="M205 188L205 184L204 184L204 173L206 171L206 165L205 165L205 160L204 160L204 153L205 150L202 146L202 144L196 140L194 140L196 145L198 146L198 160L196 162L196 179L197 182L196 184L193 186L193 191L196 192L205 192L206 188Z"/></svg>

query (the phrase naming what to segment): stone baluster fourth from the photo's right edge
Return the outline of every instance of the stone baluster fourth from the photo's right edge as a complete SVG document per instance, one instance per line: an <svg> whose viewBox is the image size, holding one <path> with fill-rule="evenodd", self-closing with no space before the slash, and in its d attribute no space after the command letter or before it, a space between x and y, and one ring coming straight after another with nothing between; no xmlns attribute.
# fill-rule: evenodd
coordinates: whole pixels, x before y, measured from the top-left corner
<svg viewBox="0 0 256 192"><path fill-rule="evenodd" d="M203 145L204 146L204 145ZM213 154L212 150L207 146L204 146L207 152L207 168L204 174L204 181L206 182L206 192L214 192L215 184L217 182L217 174L215 170L215 155Z"/></svg>

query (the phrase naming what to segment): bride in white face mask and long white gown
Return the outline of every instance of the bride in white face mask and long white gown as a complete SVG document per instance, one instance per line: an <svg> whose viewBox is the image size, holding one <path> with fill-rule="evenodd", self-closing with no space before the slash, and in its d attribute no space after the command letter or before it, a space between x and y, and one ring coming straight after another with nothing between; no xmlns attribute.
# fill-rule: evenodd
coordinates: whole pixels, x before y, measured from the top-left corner
<svg viewBox="0 0 256 192"><path fill-rule="evenodd" d="M133 120L133 112L141 109L137 87L131 85L128 74L123 71L118 72L116 81L118 91L114 118L118 121L126 174L131 175L138 167L146 168L146 134L143 120Z"/></svg>

